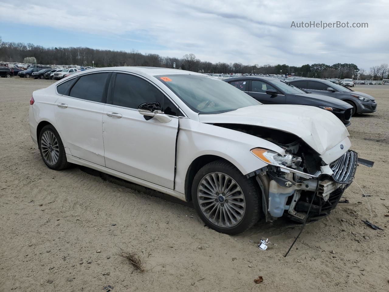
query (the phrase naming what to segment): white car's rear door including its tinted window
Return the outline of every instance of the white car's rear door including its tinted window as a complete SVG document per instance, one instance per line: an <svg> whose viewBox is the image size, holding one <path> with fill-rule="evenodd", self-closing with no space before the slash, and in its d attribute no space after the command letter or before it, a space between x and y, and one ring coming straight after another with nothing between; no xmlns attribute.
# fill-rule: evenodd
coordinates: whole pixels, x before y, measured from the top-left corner
<svg viewBox="0 0 389 292"><path fill-rule="evenodd" d="M110 72L73 78L57 86L57 130L75 157L105 166L102 119Z"/></svg>

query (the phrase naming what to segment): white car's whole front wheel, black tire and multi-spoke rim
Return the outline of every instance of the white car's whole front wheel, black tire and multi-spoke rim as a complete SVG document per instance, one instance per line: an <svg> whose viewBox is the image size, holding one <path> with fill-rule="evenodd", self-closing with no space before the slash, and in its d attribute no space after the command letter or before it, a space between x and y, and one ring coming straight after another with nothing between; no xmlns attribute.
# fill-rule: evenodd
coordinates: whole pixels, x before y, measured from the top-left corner
<svg viewBox="0 0 389 292"><path fill-rule="evenodd" d="M212 190L211 187L206 186L214 187L219 182L221 182L219 191L223 192L230 187L237 191L228 195L227 192L218 193L216 188ZM193 179L191 191L193 206L198 215L206 225L217 232L238 234L249 229L259 220L260 193L256 183L252 178L244 176L230 162L216 160L204 165ZM231 195L235 198L232 199ZM241 198L236 198L237 196Z"/></svg>

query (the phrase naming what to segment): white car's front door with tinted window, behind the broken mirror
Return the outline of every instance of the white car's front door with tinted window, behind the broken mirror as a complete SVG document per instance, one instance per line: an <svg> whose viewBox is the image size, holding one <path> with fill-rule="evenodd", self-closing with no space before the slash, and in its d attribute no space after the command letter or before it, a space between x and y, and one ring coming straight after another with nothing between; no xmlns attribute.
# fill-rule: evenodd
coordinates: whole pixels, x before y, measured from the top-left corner
<svg viewBox="0 0 389 292"><path fill-rule="evenodd" d="M138 111L144 102L159 102L171 121L147 119ZM143 77L114 73L103 114L106 167L173 189L177 106Z"/></svg>

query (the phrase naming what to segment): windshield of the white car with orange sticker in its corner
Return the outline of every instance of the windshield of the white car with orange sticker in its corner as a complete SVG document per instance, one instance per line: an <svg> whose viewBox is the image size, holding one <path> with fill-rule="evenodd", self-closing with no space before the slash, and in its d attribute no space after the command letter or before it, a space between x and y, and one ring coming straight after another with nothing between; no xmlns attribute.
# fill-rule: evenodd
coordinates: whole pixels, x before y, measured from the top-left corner
<svg viewBox="0 0 389 292"><path fill-rule="evenodd" d="M154 76L172 90L192 111L218 114L261 104L230 84L212 77L191 74Z"/></svg>

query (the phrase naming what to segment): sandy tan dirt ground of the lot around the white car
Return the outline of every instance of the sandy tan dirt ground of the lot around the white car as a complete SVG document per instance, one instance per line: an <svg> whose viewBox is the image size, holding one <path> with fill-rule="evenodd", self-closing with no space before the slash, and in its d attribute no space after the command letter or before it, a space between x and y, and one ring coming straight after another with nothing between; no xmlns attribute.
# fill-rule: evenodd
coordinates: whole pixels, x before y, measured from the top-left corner
<svg viewBox="0 0 389 292"><path fill-rule="evenodd" d="M307 225L284 258L299 231L289 222L228 236L204 227L190 204L79 167L47 168L28 108L32 91L51 83L0 78L0 291L389 291L389 86L354 88L378 111L348 128L352 149L375 161L355 179L371 195L371 216L353 183L344 197L361 204ZM263 236L277 246L259 250ZM118 257L119 247L139 252L147 271Z"/></svg>

